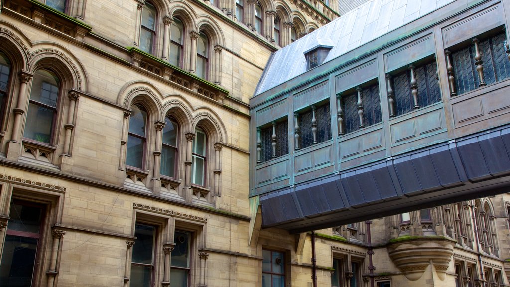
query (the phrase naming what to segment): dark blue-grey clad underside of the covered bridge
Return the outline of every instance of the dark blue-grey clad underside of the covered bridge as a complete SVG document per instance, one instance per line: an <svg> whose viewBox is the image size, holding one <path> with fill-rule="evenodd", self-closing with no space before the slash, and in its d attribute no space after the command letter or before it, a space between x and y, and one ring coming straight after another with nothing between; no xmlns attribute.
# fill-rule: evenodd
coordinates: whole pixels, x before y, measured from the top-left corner
<svg viewBox="0 0 510 287"><path fill-rule="evenodd" d="M261 196L263 227L292 233L508 192L510 125Z"/></svg>

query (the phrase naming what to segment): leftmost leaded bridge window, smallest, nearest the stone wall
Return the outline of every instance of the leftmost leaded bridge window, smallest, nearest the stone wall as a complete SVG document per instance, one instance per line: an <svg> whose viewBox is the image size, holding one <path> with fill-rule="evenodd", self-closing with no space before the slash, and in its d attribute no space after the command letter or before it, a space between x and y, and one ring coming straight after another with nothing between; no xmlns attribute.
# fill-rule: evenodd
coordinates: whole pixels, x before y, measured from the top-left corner
<svg viewBox="0 0 510 287"><path fill-rule="evenodd" d="M289 154L287 118L258 129L258 163Z"/></svg>

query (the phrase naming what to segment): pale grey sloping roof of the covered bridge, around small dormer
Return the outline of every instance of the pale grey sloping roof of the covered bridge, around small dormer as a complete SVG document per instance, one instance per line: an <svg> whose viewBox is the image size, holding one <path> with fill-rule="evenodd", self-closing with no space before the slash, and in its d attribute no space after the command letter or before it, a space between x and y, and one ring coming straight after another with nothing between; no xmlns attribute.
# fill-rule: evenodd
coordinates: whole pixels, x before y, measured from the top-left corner
<svg viewBox="0 0 510 287"><path fill-rule="evenodd" d="M317 45L333 46L324 62L406 25L455 0L373 0L331 21L274 53L254 95L307 71L304 53Z"/></svg>

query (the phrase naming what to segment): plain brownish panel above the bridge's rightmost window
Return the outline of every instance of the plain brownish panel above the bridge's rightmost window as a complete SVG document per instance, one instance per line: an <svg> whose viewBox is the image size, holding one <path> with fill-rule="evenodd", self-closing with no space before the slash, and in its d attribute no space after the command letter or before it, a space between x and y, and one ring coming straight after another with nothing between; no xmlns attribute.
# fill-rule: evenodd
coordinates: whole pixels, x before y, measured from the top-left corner
<svg viewBox="0 0 510 287"><path fill-rule="evenodd" d="M503 12L499 5L484 9L444 28L443 41L445 48L469 40L503 24Z"/></svg>

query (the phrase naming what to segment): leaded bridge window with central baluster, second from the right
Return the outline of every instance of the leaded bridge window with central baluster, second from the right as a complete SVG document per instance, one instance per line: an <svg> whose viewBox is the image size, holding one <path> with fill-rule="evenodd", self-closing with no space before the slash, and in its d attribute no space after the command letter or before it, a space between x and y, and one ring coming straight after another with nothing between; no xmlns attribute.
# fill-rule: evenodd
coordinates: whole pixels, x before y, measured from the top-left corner
<svg viewBox="0 0 510 287"><path fill-rule="evenodd" d="M393 111L391 116L441 101L436 61L428 61L417 66L410 65L392 79L396 107L391 107L390 113ZM390 96L391 93L388 92Z"/></svg>

